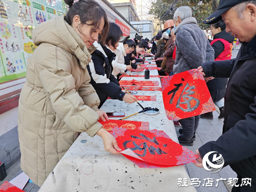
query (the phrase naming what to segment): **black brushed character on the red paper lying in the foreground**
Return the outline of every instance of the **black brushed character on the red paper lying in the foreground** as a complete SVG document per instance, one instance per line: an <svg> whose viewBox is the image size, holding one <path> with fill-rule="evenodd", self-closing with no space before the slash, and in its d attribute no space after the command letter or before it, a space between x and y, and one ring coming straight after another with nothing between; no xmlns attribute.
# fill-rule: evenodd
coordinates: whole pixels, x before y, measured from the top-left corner
<svg viewBox="0 0 256 192"><path fill-rule="evenodd" d="M156 137L153 137L153 140L152 140L152 139L148 138L147 136L145 136L145 135L142 134L142 133L140 134L140 136L142 136L142 138L131 135L132 138L147 140L147 141L149 141L149 142L153 142L153 143L156 144L156 145L159 145L158 141L156 140ZM130 148L132 151L136 151L136 150L142 151L142 150L144 150L144 152L143 152L142 155L135 153L136 155L141 156L141 157L143 157L143 156L146 155L147 149L149 150L150 154L152 154L152 155L155 155L156 153L157 153L158 155L167 154L166 152L164 152L164 151L163 151L162 149L160 149L160 148L155 148L154 146L148 146L148 144L147 144L146 142L143 142L143 143L140 143L140 144L137 145L135 141L125 141L125 142L123 143L124 149L127 149L127 144L128 144L129 142L132 142L132 144L134 145L133 148ZM141 145L142 145L143 147L140 147ZM167 145L166 145L166 146L167 146Z"/></svg>

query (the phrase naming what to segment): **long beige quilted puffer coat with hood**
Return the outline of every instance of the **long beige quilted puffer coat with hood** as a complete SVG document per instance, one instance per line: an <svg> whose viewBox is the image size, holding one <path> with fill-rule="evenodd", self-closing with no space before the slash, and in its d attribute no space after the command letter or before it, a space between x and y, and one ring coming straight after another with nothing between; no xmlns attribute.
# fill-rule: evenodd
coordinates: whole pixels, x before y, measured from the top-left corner
<svg viewBox="0 0 256 192"><path fill-rule="evenodd" d="M42 186L78 132L92 137L102 125L86 69L90 53L78 33L60 16L40 24L32 38L38 48L20 94L18 133L21 168Z"/></svg>

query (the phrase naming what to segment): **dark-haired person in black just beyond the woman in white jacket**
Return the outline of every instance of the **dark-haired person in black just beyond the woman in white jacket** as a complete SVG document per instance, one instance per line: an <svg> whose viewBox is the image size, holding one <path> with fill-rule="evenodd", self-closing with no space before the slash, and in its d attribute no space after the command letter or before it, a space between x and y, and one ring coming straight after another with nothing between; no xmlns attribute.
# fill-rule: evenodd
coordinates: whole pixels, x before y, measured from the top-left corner
<svg viewBox="0 0 256 192"><path fill-rule="evenodd" d="M132 61L133 69L143 69L141 66L137 65L136 63L142 62L142 59L138 59L138 56L139 54L144 52L145 48L146 47L143 42L136 42L136 49L132 53L126 54L126 56L124 57L124 64L130 65L130 62Z"/></svg>

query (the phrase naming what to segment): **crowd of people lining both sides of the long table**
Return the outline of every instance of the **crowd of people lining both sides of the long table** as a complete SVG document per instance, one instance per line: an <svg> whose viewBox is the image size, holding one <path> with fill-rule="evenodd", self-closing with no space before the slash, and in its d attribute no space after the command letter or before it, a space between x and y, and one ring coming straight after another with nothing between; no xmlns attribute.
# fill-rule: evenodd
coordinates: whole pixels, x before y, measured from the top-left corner
<svg viewBox="0 0 256 192"><path fill-rule="evenodd" d="M152 38L152 47L148 38L138 34L122 40L120 27L108 22L94 0L64 1L69 6L66 16L40 24L32 34L38 48L29 60L19 101L21 167L35 184L42 185L78 132L99 135L105 150L118 154L115 138L98 123L99 118L108 120L99 108L108 97L136 102L136 97L122 91L118 77L127 75L126 70L142 69L137 63L144 51L163 58L156 62L162 68L160 75L191 69L202 72L220 108L218 118L225 122L224 134L197 152L202 158L209 151L220 152L225 166L230 165L239 178L255 178L256 1L220 0L219 10L204 21L212 29L213 40L197 25L190 7L179 7L173 19L164 23L164 30ZM239 20L244 21L243 27L236 25ZM231 60L234 35L244 43L236 60ZM200 116L194 116L174 122L182 127L181 145L194 144L199 121ZM201 158L196 165L202 167Z"/></svg>

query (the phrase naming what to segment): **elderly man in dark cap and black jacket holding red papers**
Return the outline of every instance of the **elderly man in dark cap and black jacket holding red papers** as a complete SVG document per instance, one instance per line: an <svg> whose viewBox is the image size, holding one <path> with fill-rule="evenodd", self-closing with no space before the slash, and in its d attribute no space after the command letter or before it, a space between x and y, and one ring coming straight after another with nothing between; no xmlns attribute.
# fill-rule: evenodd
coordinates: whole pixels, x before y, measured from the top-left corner
<svg viewBox="0 0 256 192"><path fill-rule="evenodd" d="M233 187L232 192L256 191L256 0L220 0L219 8L204 23L221 18L226 32L243 42L233 60L208 62L198 69L206 77L229 78L225 95L223 134L217 141L204 144L197 152L203 158L208 152L222 154L224 166L241 178L251 178L252 186ZM238 25L239 23L239 25ZM202 167L202 159L196 166Z"/></svg>

